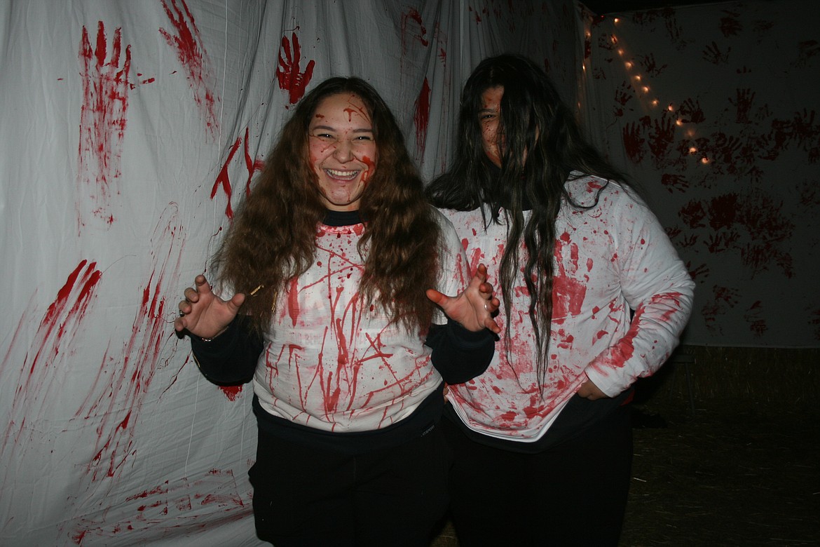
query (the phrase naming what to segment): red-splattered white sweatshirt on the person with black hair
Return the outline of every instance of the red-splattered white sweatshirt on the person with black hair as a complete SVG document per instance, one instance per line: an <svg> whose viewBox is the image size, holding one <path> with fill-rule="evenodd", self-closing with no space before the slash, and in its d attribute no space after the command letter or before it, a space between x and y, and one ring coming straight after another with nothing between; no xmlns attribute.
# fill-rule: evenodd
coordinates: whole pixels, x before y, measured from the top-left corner
<svg viewBox="0 0 820 547"><path fill-rule="evenodd" d="M565 203L556 220L545 380L540 386L530 296L519 272L509 331L502 304L498 322L505 331L490 367L467 383L449 387L450 403L473 431L507 440L538 440L587 377L615 396L639 376L655 372L688 321L695 284L645 203L597 177L568 180L566 186L583 205L594 204L600 194L590 209ZM444 214L462 237L471 269L486 264L490 282L497 284L507 226L490 224L485 230L477 209ZM524 214L528 219L530 212ZM635 314L630 320L631 310Z"/></svg>

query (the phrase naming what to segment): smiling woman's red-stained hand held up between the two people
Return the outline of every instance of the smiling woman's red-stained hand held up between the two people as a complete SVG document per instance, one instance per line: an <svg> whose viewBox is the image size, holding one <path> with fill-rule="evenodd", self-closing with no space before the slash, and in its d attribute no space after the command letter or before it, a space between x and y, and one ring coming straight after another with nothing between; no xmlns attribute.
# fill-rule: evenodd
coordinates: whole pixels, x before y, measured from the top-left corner
<svg viewBox="0 0 820 547"><path fill-rule="evenodd" d="M486 328L495 334L501 331L493 318L501 303L493 296L493 285L487 282L487 267L484 264L479 265L467 289L457 296L451 297L435 289L427 289L427 298L438 304L447 317L467 330L477 332Z"/></svg>

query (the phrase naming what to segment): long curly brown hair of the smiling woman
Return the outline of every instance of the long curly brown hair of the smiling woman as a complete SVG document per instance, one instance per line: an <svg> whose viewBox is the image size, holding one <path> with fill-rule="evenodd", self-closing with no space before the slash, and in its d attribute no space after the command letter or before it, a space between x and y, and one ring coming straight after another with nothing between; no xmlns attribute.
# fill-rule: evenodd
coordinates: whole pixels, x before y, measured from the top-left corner
<svg viewBox="0 0 820 547"><path fill-rule="evenodd" d="M426 331L434 306L425 289L435 287L439 277L440 227L392 112L359 78L325 80L298 104L216 252L218 279L248 294L240 312L262 333L280 291L311 267L326 207L309 160L307 129L319 104L340 93L362 99L378 148L376 172L359 205L365 222L358 244L365 263L360 293L391 323L408 332Z"/></svg>

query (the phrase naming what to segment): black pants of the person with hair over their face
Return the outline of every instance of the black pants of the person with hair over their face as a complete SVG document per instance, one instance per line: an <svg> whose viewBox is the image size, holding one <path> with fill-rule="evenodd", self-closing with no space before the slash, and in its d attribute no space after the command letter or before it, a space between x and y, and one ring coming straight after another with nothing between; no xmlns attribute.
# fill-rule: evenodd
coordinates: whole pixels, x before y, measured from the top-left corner
<svg viewBox="0 0 820 547"><path fill-rule="evenodd" d="M629 407L537 454L479 444L447 419L442 429L455 458L450 508L462 547L617 545L631 475Z"/></svg>

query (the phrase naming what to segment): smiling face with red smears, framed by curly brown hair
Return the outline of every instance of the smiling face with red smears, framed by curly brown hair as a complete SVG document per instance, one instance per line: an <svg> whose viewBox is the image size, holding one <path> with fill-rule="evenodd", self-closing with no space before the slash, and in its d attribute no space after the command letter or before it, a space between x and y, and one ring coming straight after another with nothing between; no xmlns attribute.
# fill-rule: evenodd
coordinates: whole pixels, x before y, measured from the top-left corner
<svg viewBox="0 0 820 547"><path fill-rule="evenodd" d="M358 210L378 162L370 114L362 99L353 93L323 99L307 128L307 137L322 203L331 211Z"/></svg>

